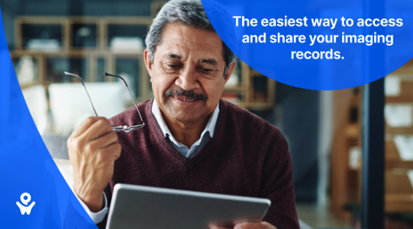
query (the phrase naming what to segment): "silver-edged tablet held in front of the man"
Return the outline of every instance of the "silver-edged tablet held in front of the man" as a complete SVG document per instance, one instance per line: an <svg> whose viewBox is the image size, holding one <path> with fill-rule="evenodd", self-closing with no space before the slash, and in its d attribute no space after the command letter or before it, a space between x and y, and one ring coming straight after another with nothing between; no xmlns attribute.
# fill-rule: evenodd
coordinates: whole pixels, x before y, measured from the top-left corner
<svg viewBox="0 0 413 229"><path fill-rule="evenodd" d="M268 199L116 184L108 229L207 229L260 222Z"/></svg>

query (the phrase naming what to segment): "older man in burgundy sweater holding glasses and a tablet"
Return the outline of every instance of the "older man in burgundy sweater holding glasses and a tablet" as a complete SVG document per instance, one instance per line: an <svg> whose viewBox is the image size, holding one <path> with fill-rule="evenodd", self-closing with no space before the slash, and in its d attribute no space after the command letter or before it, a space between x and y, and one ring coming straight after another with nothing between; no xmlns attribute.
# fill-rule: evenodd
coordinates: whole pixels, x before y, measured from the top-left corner
<svg viewBox="0 0 413 229"><path fill-rule="evenodd" d="M235 228L299 228L287 142L278 129L220 100L235 55L198 1L165 4L144 53L154 99L113 117L85 120L68 140L74 191L95 223L116 183L269 198L261 223ZM110 186L108 186L110 183ZM102 201L103 200L103 201Z"/></svg>

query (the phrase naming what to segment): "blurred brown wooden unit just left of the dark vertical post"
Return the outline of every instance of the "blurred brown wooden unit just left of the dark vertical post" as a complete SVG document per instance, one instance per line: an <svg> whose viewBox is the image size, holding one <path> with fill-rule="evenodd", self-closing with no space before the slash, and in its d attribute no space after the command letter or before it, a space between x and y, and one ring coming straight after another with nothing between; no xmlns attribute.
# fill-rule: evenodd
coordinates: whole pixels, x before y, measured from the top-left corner
<svg viewBox="0 0 413 229"><path fill-rule="evenodd" d="M361 87L334 92L334 136L330 160L331 211L349 220L345 206L360 203Z"/></svg>

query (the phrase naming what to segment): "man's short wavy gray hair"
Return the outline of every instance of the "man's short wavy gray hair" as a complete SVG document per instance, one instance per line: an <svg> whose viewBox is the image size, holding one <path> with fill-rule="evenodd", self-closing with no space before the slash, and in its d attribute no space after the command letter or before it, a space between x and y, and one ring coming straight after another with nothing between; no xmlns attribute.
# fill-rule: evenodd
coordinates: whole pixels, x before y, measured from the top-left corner
<svg viewBox="0 0 413 229"><path fill-rule="evenodd" d="M222 10L222 9L221 9ZM171 0L156 15L146 36L145 43L153 62L155 49L162 40L163 29L167 24L181 23L190 27L215 32L202 3L198 0ZM235 54L222 41L222 55L225 60L224 75L235 61Z"/></svg>

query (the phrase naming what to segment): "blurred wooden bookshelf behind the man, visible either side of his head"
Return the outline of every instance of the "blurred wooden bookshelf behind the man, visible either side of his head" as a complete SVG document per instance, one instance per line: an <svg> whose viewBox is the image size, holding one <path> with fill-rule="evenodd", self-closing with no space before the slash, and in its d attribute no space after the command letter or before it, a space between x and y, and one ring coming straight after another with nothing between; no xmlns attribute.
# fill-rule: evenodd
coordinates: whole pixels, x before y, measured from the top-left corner
<svg viewBox="0 0 413 229"><path fill-rule="evenodd" d="M153 13L163 3L154 2ZM16 17L11 57L21 87L44 85L47 92L51 83L77 82L64 71L79 74L86 82L112 82L103 76L107 71L127 78L137 102L152 98L143 59L152 20L152 16ZM222 98L246 109L269 110L275 105L275 81L237 59Z"/></svg>

